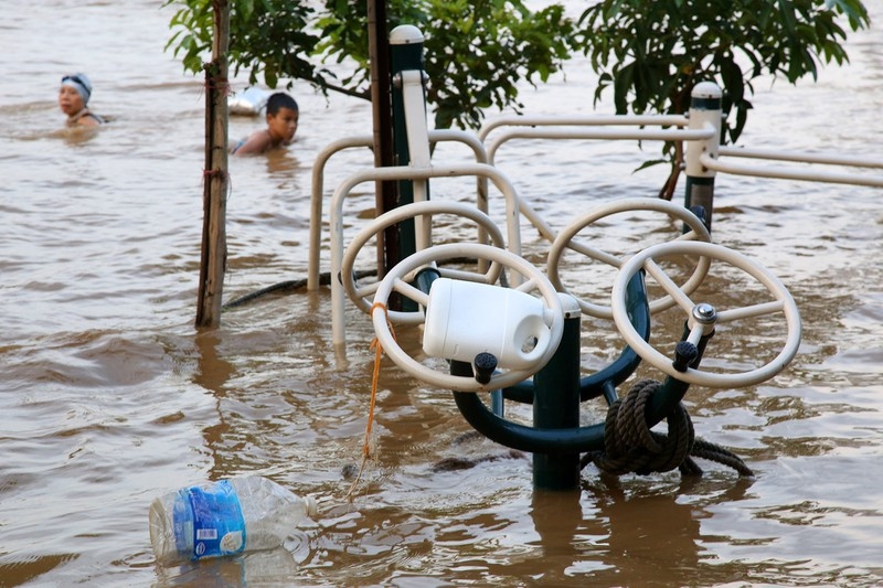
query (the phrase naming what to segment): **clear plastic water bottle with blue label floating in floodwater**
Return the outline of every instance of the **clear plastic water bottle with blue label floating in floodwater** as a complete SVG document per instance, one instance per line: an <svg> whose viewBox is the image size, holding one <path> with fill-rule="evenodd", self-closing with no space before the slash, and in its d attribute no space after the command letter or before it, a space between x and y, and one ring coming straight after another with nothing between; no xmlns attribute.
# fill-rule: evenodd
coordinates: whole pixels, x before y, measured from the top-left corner
<svg viewBox="0 0 883 588"><path fill-rule="evenodd" d="M259 475L206 482L153 501L150 543L160 563L273 549L316 510L312 498Z"/></svg>

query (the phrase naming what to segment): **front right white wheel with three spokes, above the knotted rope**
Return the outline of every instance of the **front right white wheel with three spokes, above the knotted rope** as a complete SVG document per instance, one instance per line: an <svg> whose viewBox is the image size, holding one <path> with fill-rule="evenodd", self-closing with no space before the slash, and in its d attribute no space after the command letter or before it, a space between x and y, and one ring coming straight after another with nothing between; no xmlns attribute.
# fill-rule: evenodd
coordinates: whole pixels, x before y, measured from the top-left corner
<svg viewBox="0 0 883 588"><path fill-rule="evenodd" d="M690 298L688 292L674 284L657 264L657 259L670 255L701 255L710 259L720 259L753 277L769 293L767 298L772 299L746 307L727 309L716 308L706 300L694 301ZM687 314L688 327L690 329L687 341L693 345L699 344L703 334L711 334L715 325L744 319L755 319L759 321L766 318L766 316L781 313L787 324L787 332L784 333L781 350L774 359L753 370L742 371L746 363L751 363L749 359L746 359L745 362L740 362L738 366L733 367L732 371L731 365L719 366L721 370L724 370L722 373L692 368L689 366L675 367L672 363L672 357L666 356L657 348L645 341L628 319L628 313L626 312L626 286L641 269L647 272L647 280L656 280ZM631 346L641 359L677 379L689 384L698 384L700 386L735 388L765 382L781 372L790 363L800 345L800 314L794 298L791 298L791 295L779 279L769 272L769 270L744 255L711 243L666 243L648 247L640 252L629 259L619 270L619 275L614 284L611 308L617 329L629 346ZM655 336L658 339L659 334L655 333ZM673 335L672 339L677 341L680 336ZM709 342L709 348L712 345L714 345L713 339ZM706 350L703 359L709 357L710 354Z"/></svg>

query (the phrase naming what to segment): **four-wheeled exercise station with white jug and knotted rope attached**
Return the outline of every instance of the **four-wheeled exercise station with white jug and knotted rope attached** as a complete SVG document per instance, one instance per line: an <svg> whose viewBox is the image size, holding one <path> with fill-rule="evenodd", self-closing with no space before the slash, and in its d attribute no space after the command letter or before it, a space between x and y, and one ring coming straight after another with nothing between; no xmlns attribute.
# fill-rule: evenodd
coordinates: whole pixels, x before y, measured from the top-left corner
<svg viewBox="0 0 883 588"><path fill-rule="evenodd" d="M651 201L656 202L656 201ZM458 409L467 421L483 436L513 449L530 451L534 459L534 483L542 489L570 489L578 484L579 471L588 462L615 473L666 471L679 468L684 472L701 471L692 457L704 457L735 468L740 473L751 470L733 453L696 441L689 415L681 400L690 384L730 386L751 385L768 379L794 357L800 338L796 304L781 284L766 269L725 247L690 237L708 238L702 223L693 213L674 214L675 220L693 226L673 240L651 246L628 260L599 254L587 245L574 245L572 237L587 222L602 218L611 211L641 210L645 202L634 199L602 206L577 218L562 231L558 248L565 245L592 259L603 259L619 267L613 289L610 313L617 329L629 346L604 370L589 376L581 375L581 307L568 293L558 291L543 271L522 257L501 248L502 235L494 231L481 213L467 215L496 235L493 245L448 243L416 252L395 265L375 285L358 288L348 284L347 293L359 306L366 306L365 296L374 292L370 314L379 343L393 362L409 375L433 386L454 392ZM673 205L671 205L673 206ZM650 210L672 212L670 205L650 205ZM429 215L437 211L460 212L450 203L415 203L386 213L364 227L344 254L343 267L349 271L358 249L391 223L409 216ZM646 210L646 209L645 209ZM671 224L671 223L669 223ZM684 240L687 239L687 240ZM678 286L657 263L672 255L698 259L687 281ZM443 270L439 263L455 258L483 258L501 269L515 271L524 279L518 288L497 285L501 271L472 272ZM557 257L550 255L550 260ZM774 296L766 302L721 311L720 322L784 312L788 334L783 352L763 367L736 374L702 371L700 362L715 324L714 308L693 303L688 292L701 285L712 259L723 259L757 279ZM550 264L554 267L553 264ZM447 271L447 277L443 277ZM699 278L694 276L699 275ZM645 277L662 282L667 304L689 308L683 340L672 357L666 357L650 345L650 303ZM541 298L528 292L536 291ZM393 314L387 301L393 292L416 302L421 310ZM659 306L661 308L661 306ZM413 327L424 323L423 352L433 362L426 365L398 345L390 322ZM637 352L637 354L636 354ZM662 382L641 381L632 392L619 398L616 387L638 367L641 357L667 374ZM444 360L439 362L439 360ZM674 367L672 367L674 364ZM449 373L442 372L444 366ZM489 408L479 393L491 392ZM603 397L609 406L604 423L581 426L581 404ZM517 423L507 417L502 399L533 405L533 425ZM657 423L669 420L669 435L650 430ZM638 432L635 432L635 431ZM691 457L692 456L692 457Z"/></svg>

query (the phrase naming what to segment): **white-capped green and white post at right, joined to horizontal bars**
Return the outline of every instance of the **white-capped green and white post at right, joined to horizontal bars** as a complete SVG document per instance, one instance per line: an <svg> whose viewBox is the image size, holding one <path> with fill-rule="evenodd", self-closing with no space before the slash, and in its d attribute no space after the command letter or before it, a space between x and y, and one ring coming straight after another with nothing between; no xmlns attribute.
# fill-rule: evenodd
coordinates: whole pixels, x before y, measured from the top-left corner
<svg viewBox="0 0 883 588"><path fill-rule="evenodd" d="M702 206L705 210L705 227L711 231L714 207L714 170L702 165L703 153L717 156L721 143L721 88L711 82L696 84L690 98L690 129L703 129L709 125L715 129L711 139L687 143L687 193L684 206Z"/></svg>

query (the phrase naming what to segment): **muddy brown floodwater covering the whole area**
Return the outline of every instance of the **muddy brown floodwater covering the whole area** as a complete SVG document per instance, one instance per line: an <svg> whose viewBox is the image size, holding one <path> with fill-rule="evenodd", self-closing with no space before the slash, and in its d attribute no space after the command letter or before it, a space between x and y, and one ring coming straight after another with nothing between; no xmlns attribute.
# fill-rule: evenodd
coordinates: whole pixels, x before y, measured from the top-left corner
<svg viewBox="0 0 883 588"><path fill-rule="evenodd" d="M448 392L384 360L374 460L350 500L344 473L361 459L373 371L368 318L348 303L345 355L331 342L326 288L262 297L225 311L216 330L193 327L204 95L163 52L171 11L158 4L3 6L0 586L883 584L879 189L717 180L714 240L774 271L804 319L800 350L777 377L685 397L696 435L741 456L754 479L701 460L704 475L687 480L617 480L588 466L578 491L534 491L529 457L464 437ZM883 2L868 6L883 18ZM815 85L758 82L743 145L879 156L883 30L875 21L848 46L852 63ZM63 129L55 95L74 71L88 73L94 110L113 119L98 132ZM574 63L525 88L525 109L591 114L593 84ZM331 140L371 132L369 105L301 84L292 93L295 146L231 161L226 300L306 278L312 161ZM259 127L235 118L231 138ZM468 159L461 149L439 148L436 160ZM652 142L523 141L497 162L560 229L607 200L652 196L660 171L632 170L657 153ZM372 161L366 150L336 156L326 191ZM434 183L434 196L469 197L470 183L451 182ZM349 204L348 234L371 216L371 190ZM625 229L653 228L611 222L599 238L610 245ZM542 264L547 244L530 229L523 240ZM609 284L568 264L570 284ZM726 334L715 361L776 344ZM621 345L609 322L585 320L583 338L586 372ZM661 377L649 366L641 375ZM604 407L584 413L595 423ZM450 457L475 466L434 469ZM150 501L242 472L315 496L315 524L274 552L157 566Z"/></svg>

